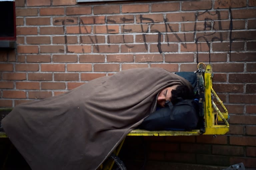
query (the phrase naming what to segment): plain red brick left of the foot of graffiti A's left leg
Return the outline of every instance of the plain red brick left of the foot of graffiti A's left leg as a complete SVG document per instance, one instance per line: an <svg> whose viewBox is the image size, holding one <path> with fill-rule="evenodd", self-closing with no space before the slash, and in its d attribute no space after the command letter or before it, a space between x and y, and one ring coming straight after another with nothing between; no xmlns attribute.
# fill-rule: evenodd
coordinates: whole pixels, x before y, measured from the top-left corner
<svg viewBox="0 0 256 170"><path fill-rule="evenodd" d="M193 62L194 54L166 54L165 62L179 63L179 62Z"/></svg>

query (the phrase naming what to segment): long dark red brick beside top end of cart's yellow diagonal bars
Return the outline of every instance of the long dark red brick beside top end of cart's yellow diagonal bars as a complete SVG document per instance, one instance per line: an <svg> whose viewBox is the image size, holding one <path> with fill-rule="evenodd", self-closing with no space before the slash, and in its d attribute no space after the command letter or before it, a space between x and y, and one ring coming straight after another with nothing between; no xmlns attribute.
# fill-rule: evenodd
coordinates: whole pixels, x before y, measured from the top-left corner
<svg viewBox="0 0 256 170"><path fill-rule="evenodd" d="M243 84L214 84L215 92L236 92L242 93L244 91Z"/></svg>

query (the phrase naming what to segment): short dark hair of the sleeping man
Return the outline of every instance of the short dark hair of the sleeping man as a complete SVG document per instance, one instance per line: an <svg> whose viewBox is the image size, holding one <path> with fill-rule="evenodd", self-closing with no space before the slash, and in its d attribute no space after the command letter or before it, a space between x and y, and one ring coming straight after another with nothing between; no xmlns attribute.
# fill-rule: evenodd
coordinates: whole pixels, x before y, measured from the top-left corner
<svg viewBox="0 0 256 170"><path fill-rule="evenodd" d="M175 89L171 91L171 93L171 102L173 104L179 101L179 97L183 99L192 99L194 97L193 92L189 90L189 87L186 85L178 85Z"/></svg>

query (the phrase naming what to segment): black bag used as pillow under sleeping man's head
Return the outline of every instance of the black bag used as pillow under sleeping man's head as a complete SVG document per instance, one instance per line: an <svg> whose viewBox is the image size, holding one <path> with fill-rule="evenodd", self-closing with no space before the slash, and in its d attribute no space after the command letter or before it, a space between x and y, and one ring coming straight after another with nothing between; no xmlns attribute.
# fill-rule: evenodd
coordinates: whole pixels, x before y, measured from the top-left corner
<svg viewBox="0 0 256 170"><path fill-rule="evenodd" d="M166 107L156 110L146 117L138 128L145 130L192 130L197 128L198 103L192 99L182 99L176 104L166 103Z"/></svg>

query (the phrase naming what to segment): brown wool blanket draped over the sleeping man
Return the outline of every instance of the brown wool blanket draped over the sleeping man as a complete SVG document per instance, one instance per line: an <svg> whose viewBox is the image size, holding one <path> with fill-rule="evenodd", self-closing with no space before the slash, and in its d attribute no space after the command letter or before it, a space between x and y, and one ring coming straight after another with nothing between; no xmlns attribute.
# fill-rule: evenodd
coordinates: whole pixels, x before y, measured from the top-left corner
<svg viewBox="0 0 256 170"><path fill-rule="evenodd" d="M188 81L160 68L130 69L16 106L3 120L32 170L95 170L156 107L158 92Z"/></svg>

